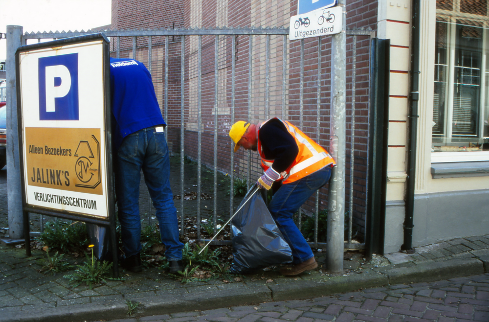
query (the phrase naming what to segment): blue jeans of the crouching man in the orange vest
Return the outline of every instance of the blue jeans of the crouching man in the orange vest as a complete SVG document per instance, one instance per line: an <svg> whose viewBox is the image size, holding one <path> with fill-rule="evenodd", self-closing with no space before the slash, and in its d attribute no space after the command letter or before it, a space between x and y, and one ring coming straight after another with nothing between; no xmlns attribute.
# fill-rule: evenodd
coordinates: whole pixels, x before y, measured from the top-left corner
<svg viewBox="0 0 489 322"><path fill-rule="evenodd" d="M330 176L331 166L327 166L300 180L283 184L268 204L268 210L292 249L294 264L305 262L314 255L292 216L317 189L330 180Z"/></svg>

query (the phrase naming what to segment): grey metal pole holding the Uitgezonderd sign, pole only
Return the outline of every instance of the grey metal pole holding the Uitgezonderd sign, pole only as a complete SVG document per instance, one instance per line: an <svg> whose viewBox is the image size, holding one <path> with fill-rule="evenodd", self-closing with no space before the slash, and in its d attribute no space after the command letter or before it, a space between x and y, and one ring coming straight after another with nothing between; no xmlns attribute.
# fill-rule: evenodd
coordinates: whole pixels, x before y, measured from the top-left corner
<svg viewBox="0 0 489 322"><path fill-rule="evenodd" d="M326 270L343 273L345 234L345 160L346 160L346 8L341 32L333 35L331 71L330 153L336 161L329 185Z"/></svg>

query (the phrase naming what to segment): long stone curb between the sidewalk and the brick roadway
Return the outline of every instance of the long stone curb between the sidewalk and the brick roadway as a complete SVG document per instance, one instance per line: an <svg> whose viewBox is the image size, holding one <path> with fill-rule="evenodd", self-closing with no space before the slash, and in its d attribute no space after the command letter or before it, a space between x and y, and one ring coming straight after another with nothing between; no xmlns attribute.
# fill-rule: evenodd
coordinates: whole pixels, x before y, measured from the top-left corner
<svg viewBox="0 0 489 322"><path fill-rule="evenodd" d="M484 256L481 259L452 259L441 262L424 262L411 267L365 270L362 274L349 276L324 278L314 276L311 279L304 276L306 279L272 285L257 282L222 284L200 288L198 292L134 297L134 301L140 302L139 312L134 315L134 318L268 301L311 299L390 284L434 282L455 277L482 275L488 272L488 265L489 256ZM127 306L122 298L102 303L92 302L22 311L0 309L1 322L84 322L127 318L129 318Z"/></svg>

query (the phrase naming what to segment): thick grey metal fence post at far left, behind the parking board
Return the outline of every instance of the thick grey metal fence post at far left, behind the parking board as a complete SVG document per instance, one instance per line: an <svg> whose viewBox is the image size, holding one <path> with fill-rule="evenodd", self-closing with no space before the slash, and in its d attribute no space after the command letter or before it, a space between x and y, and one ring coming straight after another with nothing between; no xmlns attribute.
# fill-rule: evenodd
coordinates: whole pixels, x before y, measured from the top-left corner
<svg viewBox="0 0 489 322"><path fill-rule="evenodd" d="M15 52L22 37L22 26L7 25L7 205L9 239L23 235L22 183L17 131L17 80Z"/></svg>

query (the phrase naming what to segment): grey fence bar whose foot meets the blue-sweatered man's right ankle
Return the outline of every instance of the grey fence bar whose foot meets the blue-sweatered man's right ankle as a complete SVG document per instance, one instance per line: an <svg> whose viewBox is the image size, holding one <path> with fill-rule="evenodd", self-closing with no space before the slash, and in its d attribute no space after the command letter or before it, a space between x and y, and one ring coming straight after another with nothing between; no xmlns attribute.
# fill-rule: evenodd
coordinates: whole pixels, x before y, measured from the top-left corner
<svg viewBox="0 0 489 322"><path fill-rule="evenodd" d="M183 138L185 136L185 113L184 113L184 94L185 94L185 36L182 37L182 47L181 47L181 71L180 71L180 237L184 236L185 233L185 215L183 212L183 196L185 195L184 183L183 183L183 165L184 165L184 143Z"/></svg>

